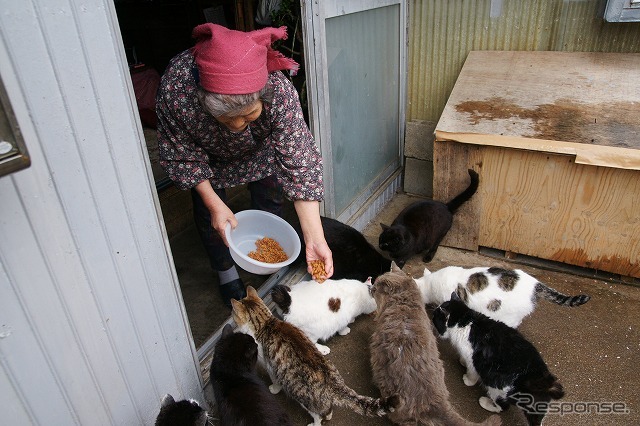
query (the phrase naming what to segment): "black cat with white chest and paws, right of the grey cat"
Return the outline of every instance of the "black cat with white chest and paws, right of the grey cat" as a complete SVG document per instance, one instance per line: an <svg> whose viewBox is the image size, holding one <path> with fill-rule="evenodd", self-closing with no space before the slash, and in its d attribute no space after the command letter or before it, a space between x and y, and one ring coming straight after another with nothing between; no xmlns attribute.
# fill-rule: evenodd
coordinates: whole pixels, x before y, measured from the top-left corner
<svg viewBox="0 0 640 426"><path fill-rule="evenodd" d="M433 324L460 354L465 385L480 380L486 387L489 397L479 400L485 410L499 413L515 403L530 425L539 425L548 403L564 396L533 344L516 329L470 309L456 293L435 309Z"/></svg>

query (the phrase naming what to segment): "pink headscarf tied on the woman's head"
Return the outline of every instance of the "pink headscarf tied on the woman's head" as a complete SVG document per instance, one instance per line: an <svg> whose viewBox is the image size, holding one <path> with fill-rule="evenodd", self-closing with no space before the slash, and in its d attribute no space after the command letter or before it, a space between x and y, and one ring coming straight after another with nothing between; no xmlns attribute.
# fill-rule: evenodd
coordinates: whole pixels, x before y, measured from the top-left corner
<svg viewBox="0 0 640 426"><path fill-rule="evenodd" d="M195 27L192 36L200 86L209 92L254 93L264 87L270 72L299 68L293 59L271 48L274 41L286 40L287 27L243 32L209 23Z"/></svg>

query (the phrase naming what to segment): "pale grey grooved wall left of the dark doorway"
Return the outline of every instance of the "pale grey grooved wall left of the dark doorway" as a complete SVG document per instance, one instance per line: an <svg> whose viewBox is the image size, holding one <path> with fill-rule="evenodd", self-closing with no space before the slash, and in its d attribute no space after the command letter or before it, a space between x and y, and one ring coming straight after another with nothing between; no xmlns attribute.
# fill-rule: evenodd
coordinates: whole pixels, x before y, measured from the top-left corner
<svg viewBox="0 0 640 426"><path fill-rule="evenodd" d="M201 376L111 0L0 0L0 424L152 424Z"/></svg>

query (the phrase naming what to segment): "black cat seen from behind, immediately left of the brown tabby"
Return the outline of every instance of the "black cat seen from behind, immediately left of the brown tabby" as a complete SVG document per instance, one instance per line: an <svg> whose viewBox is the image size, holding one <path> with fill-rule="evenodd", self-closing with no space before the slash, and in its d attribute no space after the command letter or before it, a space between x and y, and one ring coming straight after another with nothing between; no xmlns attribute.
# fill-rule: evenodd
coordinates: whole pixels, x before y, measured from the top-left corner
<svg viewBox="0 0 640 426"><path fill-rule="evenodd" d="M211 360L211 386L222 426L293 426L256 371L258 345L226 324Z"/></svg>

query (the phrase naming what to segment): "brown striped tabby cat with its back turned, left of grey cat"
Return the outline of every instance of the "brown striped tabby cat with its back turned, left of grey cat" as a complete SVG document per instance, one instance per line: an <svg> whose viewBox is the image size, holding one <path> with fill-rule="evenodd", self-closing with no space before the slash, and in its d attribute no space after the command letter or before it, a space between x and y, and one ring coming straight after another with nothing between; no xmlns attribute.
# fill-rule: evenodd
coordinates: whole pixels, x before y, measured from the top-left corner
<svg viewBox="0 0 640 426"><path fill-rule="evenodd" d="M284 389L313 417L312 425L329 420L334 405L380 417L393 411L397 397L385 399L358 395L349 388L328 361L295 325L274 317L256 290L248 286L247 297L231 300L233 319L258 343L262 360L273 381L272 393Z"/></svg>

